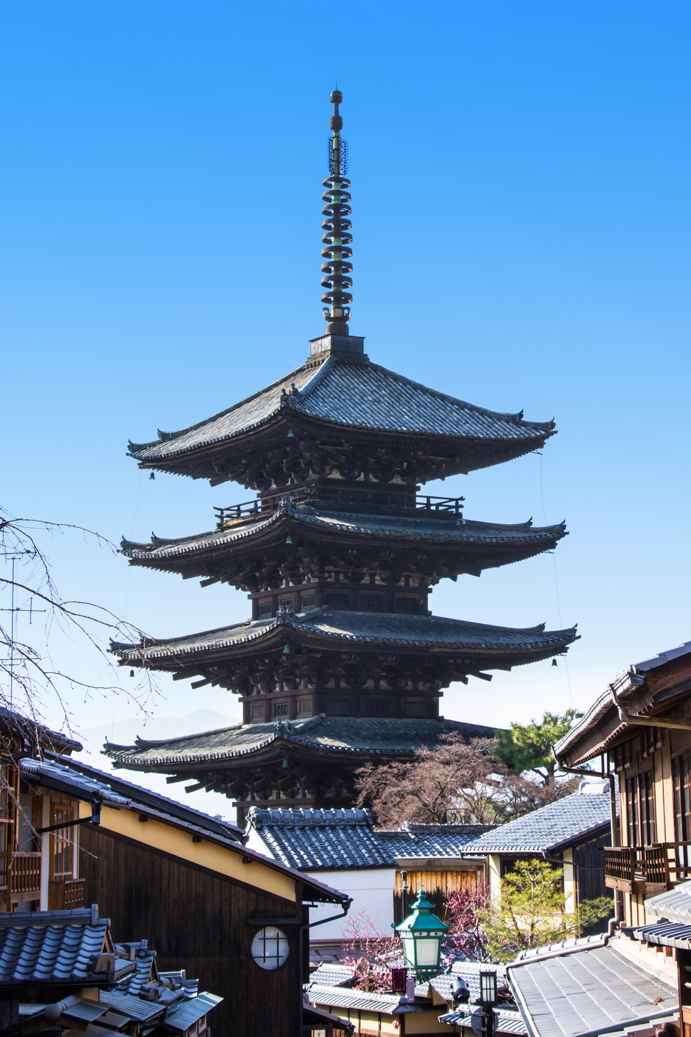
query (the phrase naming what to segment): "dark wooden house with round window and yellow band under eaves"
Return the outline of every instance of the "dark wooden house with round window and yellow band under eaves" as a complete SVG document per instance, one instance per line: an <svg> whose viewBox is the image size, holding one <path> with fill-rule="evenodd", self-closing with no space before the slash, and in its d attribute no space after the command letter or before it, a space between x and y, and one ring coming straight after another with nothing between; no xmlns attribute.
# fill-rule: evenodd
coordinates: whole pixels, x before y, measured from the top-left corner
<svg viewBox="0 0 691 1037"><path fill-rule="evenodd" d="M343 918L346 893L243 845L234 825L78 760L22 760L22 775L33 794L61 790L76 804L86 901L116 932L145 932L163 975L185 970L220 996L220 1034L303 1037L314 1021L303 1010L311 927Z"/></svg>

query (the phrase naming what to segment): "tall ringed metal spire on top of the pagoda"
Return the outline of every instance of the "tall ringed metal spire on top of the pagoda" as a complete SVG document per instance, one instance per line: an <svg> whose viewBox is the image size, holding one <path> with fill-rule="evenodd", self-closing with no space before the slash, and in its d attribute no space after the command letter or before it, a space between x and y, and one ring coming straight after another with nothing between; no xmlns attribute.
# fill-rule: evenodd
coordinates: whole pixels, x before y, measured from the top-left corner
<svg viewBox="0 0 691 1037"><path fill-rule="evenodd" d="M352 296L352 234L350 233L350 180L346 179L348 172L348 145L341 137L343 118L339 114L339 105L343 102L340 90L332 90L330 102L334 105L330 128L333 136L328 139L328 171L329 176L323 181L326 189L322 195L324 220L321 229L324 231L321 250L321 286L326 288L321 297L324 306L327 335L348 335L348 320Z"/></svg>

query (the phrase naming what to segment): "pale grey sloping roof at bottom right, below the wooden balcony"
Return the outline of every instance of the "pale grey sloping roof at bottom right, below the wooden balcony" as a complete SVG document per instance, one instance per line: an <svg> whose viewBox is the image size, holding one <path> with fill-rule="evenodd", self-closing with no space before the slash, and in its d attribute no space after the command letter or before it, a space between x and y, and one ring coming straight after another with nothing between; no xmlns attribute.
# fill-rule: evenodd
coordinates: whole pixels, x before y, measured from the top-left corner
<svg viewBox="0 0 691 1037"><path fill-rule="evenodd" d="M535 1037L596 1037L652 1026L679 1006L675 990L610 947L519 962L508 974Z"/></svg>

